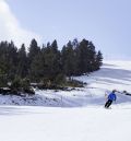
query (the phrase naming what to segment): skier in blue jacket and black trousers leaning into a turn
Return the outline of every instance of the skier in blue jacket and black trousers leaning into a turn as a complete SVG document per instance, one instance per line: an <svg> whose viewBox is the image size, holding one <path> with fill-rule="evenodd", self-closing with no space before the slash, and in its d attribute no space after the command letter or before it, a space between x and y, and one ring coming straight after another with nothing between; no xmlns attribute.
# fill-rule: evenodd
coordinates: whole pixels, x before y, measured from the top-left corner
<svg viewBox="0 0 131 141"><path fill-rule="evenodd" d="M112 92L108 95L108 99L105 104L105 108L109 108L109 106L112 104L112 101L117 99L117 96L116 96L115 92L117 92L117 91L112 90Z"/></svg>

